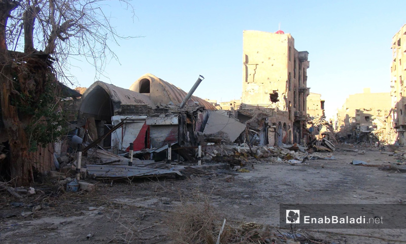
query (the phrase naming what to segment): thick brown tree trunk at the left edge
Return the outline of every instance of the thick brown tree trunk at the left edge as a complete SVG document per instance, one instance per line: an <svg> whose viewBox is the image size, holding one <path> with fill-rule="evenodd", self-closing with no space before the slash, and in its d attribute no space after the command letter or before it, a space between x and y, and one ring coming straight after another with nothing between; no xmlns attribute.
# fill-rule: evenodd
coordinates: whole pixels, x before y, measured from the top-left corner
<svg viewBox="0 0 406 244"><path fill-rule="evenodd" d="M13 0L0 0L0 100L1 100L1 110L2 118L5 125L5 131L7 132L10 145L10 172L13 182L16 186L29 186L33 181L32 177L32 164L28 158L28 148L29 141L26 132L26 128L31 121L32 115L29 114L19 114L16 104L13 104L14 98L19 98L20 94L14 89L15 76L19 75L19 82L24 94L26 93L27 85L29 80L24 74L21 66L18 67L18 62L10 56L7 48L6 41L6 26L7 20L10 13L17 8L19 5L18 1ZM24 21L25 39L32 38L32 26L38 9L32 7L27 11L25 16L28 18ZM27 41L27 40L25 40ZM25 49L32 53L32 48L27 47L32 46L32 41L27 41ZM26 63L28 64L28 63ZM26 79L24 79L26 78ZM16 94L17 93L17 94ZM18 99L14 99L18 101ZM20 100L22 100L20 98Z"/></svg>

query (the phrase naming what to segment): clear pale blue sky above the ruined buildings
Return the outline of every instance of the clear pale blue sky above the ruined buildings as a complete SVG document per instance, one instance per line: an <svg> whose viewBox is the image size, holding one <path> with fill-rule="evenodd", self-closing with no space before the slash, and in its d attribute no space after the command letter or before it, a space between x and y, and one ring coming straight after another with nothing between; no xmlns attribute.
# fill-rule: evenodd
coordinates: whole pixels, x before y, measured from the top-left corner
<svg viewBox="0 0 406 244"><path fill-rule="evenodd" d="M290 33L309 52L308 86L322 94L327 115L350 94L390 91L391 39L406 23L403 1L133 1L134 14L112 1L105 8L122 35L105 77L72 61L79 85L95 80L124 88L145 73L194 95L228 101L242 93L243 31Z"/></svg>

